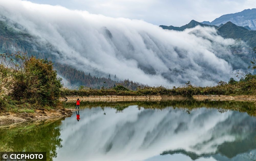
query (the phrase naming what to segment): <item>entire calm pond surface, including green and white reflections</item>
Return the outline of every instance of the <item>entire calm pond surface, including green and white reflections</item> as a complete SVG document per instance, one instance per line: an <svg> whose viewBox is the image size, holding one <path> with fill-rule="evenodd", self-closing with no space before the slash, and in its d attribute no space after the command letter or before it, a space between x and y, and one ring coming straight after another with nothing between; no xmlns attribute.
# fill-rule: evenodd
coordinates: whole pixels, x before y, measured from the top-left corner
<svg viewBox="0 0 256 161"><path fill-rule="evenodd" d="M59 161L256 160L256 119L241 107L254 105L81 102L79 121L74 112L65 120L0 129L0 150L47 151L48 160Z"/></svg>

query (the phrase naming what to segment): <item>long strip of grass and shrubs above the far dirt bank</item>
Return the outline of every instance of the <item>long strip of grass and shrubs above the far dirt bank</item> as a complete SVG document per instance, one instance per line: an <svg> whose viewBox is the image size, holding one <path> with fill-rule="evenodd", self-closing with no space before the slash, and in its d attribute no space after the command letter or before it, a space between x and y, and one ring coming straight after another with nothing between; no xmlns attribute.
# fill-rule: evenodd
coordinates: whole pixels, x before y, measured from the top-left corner
<svg viewBox="0 0 256 161"><path fill-rule="evenodd" d="M145 95L255 95L256 94L256 75L247 74L240 81L233 78L228 83L220 81L217 86L193 86L190 82L184 86L167 89L160 87L138 88L137 91L129 90L121 85L110 89L80 88L79 90L62 89L61 96L102 96L102 95L121 95L121 96L145 96Z"/></svg>

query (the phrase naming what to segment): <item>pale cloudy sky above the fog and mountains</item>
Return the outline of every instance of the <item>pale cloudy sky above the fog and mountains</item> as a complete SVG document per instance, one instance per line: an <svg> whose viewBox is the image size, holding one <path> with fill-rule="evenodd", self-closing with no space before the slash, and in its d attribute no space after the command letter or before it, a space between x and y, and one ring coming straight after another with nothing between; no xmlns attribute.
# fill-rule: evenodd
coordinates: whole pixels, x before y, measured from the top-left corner
<svg viewBox="0 0 256 161"><path fill-rule="evenodd" d="M224 14L256 8L255 0L29 0L109 17L139 19L154 25L183 26L213 21Z"/></svg>

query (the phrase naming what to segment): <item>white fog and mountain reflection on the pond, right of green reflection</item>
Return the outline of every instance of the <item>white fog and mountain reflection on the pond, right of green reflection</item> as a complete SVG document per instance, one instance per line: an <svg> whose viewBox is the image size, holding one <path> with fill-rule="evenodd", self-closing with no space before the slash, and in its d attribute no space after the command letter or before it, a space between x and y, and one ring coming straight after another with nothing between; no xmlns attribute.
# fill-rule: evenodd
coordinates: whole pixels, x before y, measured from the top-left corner
<svg viewBox="0 0 256 161"><path fill-rule="evenodd" d="M156 109L155 102L143 102L141 106L101 102L100 107L93 102L84 102L86 106L82 103L80 113L84 119L79 127L70 118L63 122L63 148L58 150L56 160L72 159L72 154L78 160L145 160L153 156L161 160L167 154L183 154L190 160L254 159L256 119L229 110L242 110L240 107L246 106L243 103L230 102L229 108L219 102L202 103L203 108L197 108L199 104L181 108L186 103L168 106L165 102L158 104L161 110ZM210 108L215 106L218 108ZM78 142L81 148L69 148Z"/></svg>

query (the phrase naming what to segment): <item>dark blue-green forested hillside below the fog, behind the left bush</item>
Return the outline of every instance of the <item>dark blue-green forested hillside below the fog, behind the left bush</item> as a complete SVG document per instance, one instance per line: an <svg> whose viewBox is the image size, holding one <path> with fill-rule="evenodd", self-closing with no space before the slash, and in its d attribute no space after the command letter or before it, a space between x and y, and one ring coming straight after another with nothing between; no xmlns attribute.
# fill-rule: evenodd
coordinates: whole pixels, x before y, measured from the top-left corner
<svg viewBox="0 0 256 161"><path fill-rule="evenodd" d="M118 78L111 78L110 75L106 77L92 76L90 73L85 74L68 64L62 65L56 62L56 56L53 53L59 53L49 43L42 43L36 37L31 36L18 24L13 26L9 25L8 19L6 21L0 20L0 53L14 53L20 51L27 53L28 56L34 55L40 59L48 59L54 62L54 67L58 75L63 78L63 82L67 83L66 86L75 88L79 86L86 86L90 88L100 89L112 88L116 84L136 90L138 86L144 87L145 85L127 80L119 80Z"/></svg>

